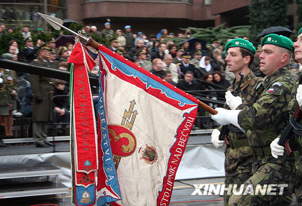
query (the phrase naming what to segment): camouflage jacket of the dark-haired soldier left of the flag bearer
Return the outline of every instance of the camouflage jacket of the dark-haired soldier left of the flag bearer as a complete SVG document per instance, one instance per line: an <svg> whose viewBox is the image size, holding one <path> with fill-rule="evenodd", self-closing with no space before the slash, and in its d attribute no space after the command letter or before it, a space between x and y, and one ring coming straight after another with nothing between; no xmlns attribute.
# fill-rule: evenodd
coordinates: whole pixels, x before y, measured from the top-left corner
<svg viewBox="0 0 302 206"><path fill-rule="evenodd" d="M248 84L250 80L253 80ZM233 81L232 85L229 87L229 91L233 92L236 90L240 84L240 88L246 86L241 93L238 94L241 97L243 104L239 105L238 109L244 109L253 105L255 89L257 85L262 82L263 78L257 78L252 71L247 74L240 84L240 81ZM228 105L223 106L225 109L230 109ZM220 129L219 129L220 130ZM228 139L230 142L247 139L247 136L243 132L234 133L229 132ZM226 176L234 176L240 173L250 172L251 165L253 162L252 149L249 146L240 147L232 149L231 147L225 149L225 162L224 169Z"/></svg>

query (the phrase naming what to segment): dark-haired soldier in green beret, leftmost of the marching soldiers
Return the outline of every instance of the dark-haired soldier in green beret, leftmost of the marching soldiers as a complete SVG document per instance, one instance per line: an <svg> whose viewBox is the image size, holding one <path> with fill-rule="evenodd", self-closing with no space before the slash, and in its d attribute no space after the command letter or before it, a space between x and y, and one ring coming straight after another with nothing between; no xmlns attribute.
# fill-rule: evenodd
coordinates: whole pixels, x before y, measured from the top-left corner
<svg viewBox="0 0 302 206"><path fill-rule="evenodd" d="M232 85L229 87L226 95L236 93L236 96L242 99L243 104L240 108L252 106L255 96L255 89L262 78L257 78L250 67L254 59L256 49L253 44L245 39L233 39L225 45L226 58L228 62L229 71L235 75ZM244 78L240 73L244 74ZM235 109L235 105L231 109ZM225 109L229 106L224 105ZM225 142L219 140L220 132L225 135ZM230 184L243 184L251 176L253 153L252 148L249 147L247 134L238 131L230 131L228 126L219 127L213 130L211 135L213 145L218 149L226 144L225 148L225 187ZM228 205L230 195L224 191L224 205Z"/></svg>

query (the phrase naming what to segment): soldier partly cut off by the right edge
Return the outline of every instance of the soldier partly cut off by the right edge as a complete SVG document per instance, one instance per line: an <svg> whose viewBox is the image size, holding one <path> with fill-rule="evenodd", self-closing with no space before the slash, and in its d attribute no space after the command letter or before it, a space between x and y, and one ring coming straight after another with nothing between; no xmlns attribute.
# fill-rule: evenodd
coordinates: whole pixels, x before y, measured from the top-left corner
<svg viewBox="0 0 302 206"><path fill-rule="evenodd" d="M302 63L302 28L298 31L298 36L296 42L293 44L294 46L294 58L299 63ZM302 74L299 75L292 93L291 100L288 104L288 112L290 113L290 117L297 110L301 110L302 106ZM299 107L299 108L298 108ZM299 111L301 112L301 111ZM301 120L298 120L301 123ZM295 129L294 129L295 130ZM294 131L295 132L295 131ZM301 132L301 131L299 131ZM272 151L272 156L275 158L280 158L278 156L284 156L284 147L278 145L279 138L275 139L270 147ZM302 136L294 134L294 138L290 140L290 145L292 148L295 148L298 152L296 155L296 185L295 185L295 197L297 200L297 206L302 205Z"/></svg>

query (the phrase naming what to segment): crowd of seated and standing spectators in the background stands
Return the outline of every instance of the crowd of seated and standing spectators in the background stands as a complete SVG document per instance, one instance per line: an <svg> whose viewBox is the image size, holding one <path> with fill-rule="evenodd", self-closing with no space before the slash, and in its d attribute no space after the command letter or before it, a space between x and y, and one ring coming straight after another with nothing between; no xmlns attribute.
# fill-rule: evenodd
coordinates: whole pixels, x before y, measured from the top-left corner
<svg viewBox="0 0 302 206"><path fill-rule="evenodd" d="M234 80L234 75L228 72L228 65L224 60L226 55L219 39L213 39L212 42L208 42L207 46L205 46L202 44L202 41L198 40L191 43L189 40L191 37L190 31L176 35L169 33L167 29L163 29L158 34L147 37L143 32L134 34L131 32L131 29L131 26L126 25L123 30L118 29L114 32L111 29L110 22L106 22L104 29L101 31L96 26L85 26L82 29L82 34L90 36L96 33L98 36L108 39L110 41L110 45L108 45L110 50L128 58L145 70L166 80L179 89L189 92L195 97L224 101L225 92L223 90L226 90L230 86ZM10 35L12 31L13 28L6 28L5 25L0 25L0 38L2 35ZM31 32L29 27L25 26L22 32L23 39L12 39L9 41L7 46L8 51L2 54L2 57L68 71L67 60L72 51L73 44L66 42L65 46L57 47L54 38L49 39L47 42L43 42L40 39L34 42ZM187 39L187 41L176 44L171 40L174 37L181 37ZM239 37L230 37L229 40L232 38ZM244 38L247 39L248 37ZM20 44L24 44L25 47L23 50L19 49ZM263 74L259 71L260 53L261 49L258 46L251 70L256 76L263 77ZM292 62L291 68L295 73L299 72L299 65L297 63ZM1 70L0 74L5 74L4 71ZM98 65L96 65L91 73L98 74ZM19 97L19 99L17 98L21 105L19 109L23 115L30 117L33 115L33 102L43 101L41 96L41 100L37 96L32 96L31 77L33 75L26 72L17 72L14 74L10 73L7 76L13 78L16 81L14 83L16 85L18 85L18 80L23 82L13 90L16 92L16 96ZM24 81L26 81L26 84L24 84ZM54 95L68 95L68 82L55 79L52 79L51 82ZM18 93L22 93L22 95ZM12 96L11 94L9 95ZM52 104L52 119L55 122L67 122L69 119L68 101L68 97L54 100ZM213 107L216 106L214 103L208 104ZM1 107L0 105L0 110ZM11 108L7 109L12 110ZM204 112L200 112L200 114L206 115ZM5 126L5 123L2 123L0 118L0 132L1 126ZM67 134L66 125L59 127L57 134ZM1 138L12 136L9 131L0 135ZM51 145L51 143L45 141L44 143L39 143L43 147Z"/></svg>

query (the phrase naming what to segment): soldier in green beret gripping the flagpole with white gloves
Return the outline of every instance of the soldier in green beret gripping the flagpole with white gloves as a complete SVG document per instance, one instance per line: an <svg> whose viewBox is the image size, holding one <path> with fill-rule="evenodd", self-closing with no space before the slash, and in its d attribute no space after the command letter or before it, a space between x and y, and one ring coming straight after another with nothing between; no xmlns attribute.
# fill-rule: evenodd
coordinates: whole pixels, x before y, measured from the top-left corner
<svg viewBox="0 0 302 206"><path fill-rule="evenodd" d="M249 145L254 153L252 174L243 190L251 185L287 185L275 187L274 192L282 195L269 195L258 192L231 195L229 205L290 205L294 181L294 157L271 156L270 143L284 129L288 119L287 106L296 76L288 64L294 51L292 41L284 36L269 34L262 41L260 70L266 75L256 87L255 103L243 108L242 99L229 94L226 103L233 110L216 108L218 114L212 119L219 124L233 124L246 132ZM250 186L249 186L250 185Z"/></svg>

